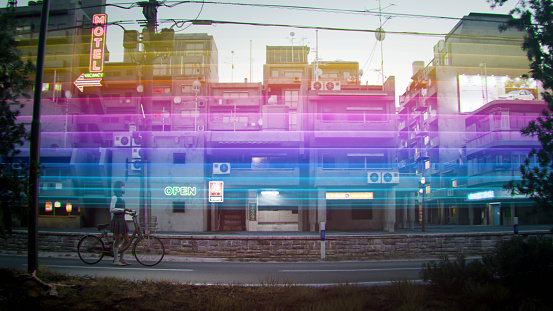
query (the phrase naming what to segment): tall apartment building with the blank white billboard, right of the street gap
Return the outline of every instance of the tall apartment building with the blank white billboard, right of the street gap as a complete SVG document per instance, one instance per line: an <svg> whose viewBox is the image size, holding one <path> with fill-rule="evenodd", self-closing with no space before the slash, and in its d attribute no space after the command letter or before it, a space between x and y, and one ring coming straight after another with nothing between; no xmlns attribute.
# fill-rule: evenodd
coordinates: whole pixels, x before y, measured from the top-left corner
<svg viewBox="0 0 553 311"><path fill-rule="evenodd" d="M413 63L398 110L398 162L400 172L413 177L409 188L424 188L424 202L421 195L415 200L420 221L425 208L427 223L468 224L456 189L467 182L465 116L512 90L539 97L537 83L520 78L529 72L524 33L498 29L510 18L471 13L436 44L431 62ZM404 200L412 196L406 193Z"/></svg>

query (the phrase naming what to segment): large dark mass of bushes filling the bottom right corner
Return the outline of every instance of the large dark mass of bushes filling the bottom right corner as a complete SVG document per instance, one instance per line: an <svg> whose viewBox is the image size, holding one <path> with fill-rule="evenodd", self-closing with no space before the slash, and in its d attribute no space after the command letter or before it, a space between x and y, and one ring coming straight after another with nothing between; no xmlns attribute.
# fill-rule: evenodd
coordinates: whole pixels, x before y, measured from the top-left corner
<svg viewBox="0 0 553 311"><path fill-rule="evenodd" d="M461 293L468 310L545 310L553 277L553 241L515 236L482 260L458 255L423 265L421 277L446 294ZM520 308L513 307L514 305Z"/></svg>

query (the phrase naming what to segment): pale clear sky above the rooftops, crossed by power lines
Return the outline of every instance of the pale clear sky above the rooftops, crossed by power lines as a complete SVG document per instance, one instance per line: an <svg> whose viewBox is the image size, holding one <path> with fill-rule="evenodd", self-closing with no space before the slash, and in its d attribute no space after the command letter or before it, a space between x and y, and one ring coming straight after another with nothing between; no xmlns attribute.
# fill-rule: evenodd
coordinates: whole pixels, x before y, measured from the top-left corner
<svg viewBox="0 0 553 311"><path fill-rule="evenodd" d="M0 0L0 5L6 6L6 2L6 0ZM359 62L364 72L361 77L362 84L382 84L380 70L383 67L385 77L395 76L396 78L396 96L403 94L409 84L412 63L424 61L428 64L433 58L434 45L444 38L444 34L448 33L459 19L471 12L507 14L516 4L516 1L510 1L503 7L492 9L486 0L229 0L225 1L226 4L182 2L185 1L165 1L166 6L159 7L157 15L160 21L159 29L173 26L176 33L213 35L219 51L220 82L242 82L244 78L253 82L262 82L267 45L307 45L311 48L309 54L311 63L316 57L317 31L294 27L229 24L207 26L178 23L175 25L174 22L169 21L170 19L181 21L197 18L362 30L375 30L382 24L387 32L382 41L382 47L376 40L374 32L319 30L318 55L322 61ZM19 1L19 6L26 3L26 1ZM133 2L125 0L121 2L108 0L108 3L128 8L108 7L106 9L108 22L122 21L121 25L127 30L141 29L137 21L145 19L142 8L131 7ZM268 8L229 3L316 7L338 11ZM378 14L379 7L381 15ZM346 13L346 10L366 13ZM404 32L410 34L404 34ZM123 28L115 25L108 27L106 43L110 51L110 61L123 60L122 36ZM233 65L234 69L232 69Z"/></svg>

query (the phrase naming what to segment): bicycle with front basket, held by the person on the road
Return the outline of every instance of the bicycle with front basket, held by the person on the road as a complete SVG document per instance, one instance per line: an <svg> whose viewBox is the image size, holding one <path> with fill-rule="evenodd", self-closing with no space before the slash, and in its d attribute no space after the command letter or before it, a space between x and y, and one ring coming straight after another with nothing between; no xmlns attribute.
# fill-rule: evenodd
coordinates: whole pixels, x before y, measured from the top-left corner
<svg viewBox="0 0 553 311"><path fill-rule="evenodd" d="M132 253L136 260L144 266L155 266L161 262L163 256L165 255L165 247L161 240L152 235L152 231L155 230L155 223L146 223L144 225L146 231L143 232L140 224L138 223L138 215L136 211L128 212L128 215L132 217L134 223L134 231L132 236L129 239L129 243L122 247L119 252L124 252L131 244L135 237L137 238L134 241ZM86 264L93 265L104 256L113 257L113 240L110 240L109 234L106 231L106 228L109 227L109 224L97 225L96 229L99 232L102 232L100 236L88 234L81 238L79 244L77 245L77 253L79 258ZM104 239L107 243L104 243ZM107 244L107 246L106 246Z"/></svg>

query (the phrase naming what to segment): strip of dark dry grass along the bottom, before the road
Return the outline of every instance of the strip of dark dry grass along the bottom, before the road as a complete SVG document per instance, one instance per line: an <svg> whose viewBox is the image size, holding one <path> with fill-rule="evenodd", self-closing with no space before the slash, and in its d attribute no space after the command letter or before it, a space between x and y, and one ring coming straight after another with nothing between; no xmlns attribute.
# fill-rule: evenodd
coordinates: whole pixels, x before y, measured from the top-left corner
<svg viewBox="0 0 553 311"><path fill-rule="evenodd" d="M341 284L308 287L267 277L261 286L200 286L172 281L128 281L113 277L75 277L40 267L37 278L58 284L57 296L24 271L0 268L0 310L487 310L504 305L509 289L475 285L444 295L434 286L408 280L388 286ZM482 287L483 286L483 287ZM475 305L462 302L478 297ZM513 310L548 310L551 305L531 297ZM509 308L507 308L509 309ZM505 310L507 310L505 309Z"/></svg>

